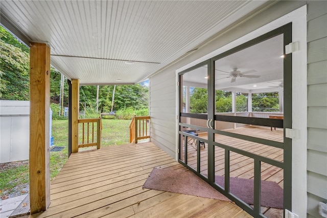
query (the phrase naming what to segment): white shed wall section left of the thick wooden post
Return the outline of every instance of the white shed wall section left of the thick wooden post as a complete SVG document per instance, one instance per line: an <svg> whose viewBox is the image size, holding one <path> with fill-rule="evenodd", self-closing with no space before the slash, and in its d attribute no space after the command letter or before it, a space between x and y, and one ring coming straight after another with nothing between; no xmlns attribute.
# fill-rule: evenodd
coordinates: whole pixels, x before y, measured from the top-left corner
<svg viewBox="0 0 327 218"><path fill-rule="evenodd" d="M0 101L0 162L28 160L30 102Z"/></svg>

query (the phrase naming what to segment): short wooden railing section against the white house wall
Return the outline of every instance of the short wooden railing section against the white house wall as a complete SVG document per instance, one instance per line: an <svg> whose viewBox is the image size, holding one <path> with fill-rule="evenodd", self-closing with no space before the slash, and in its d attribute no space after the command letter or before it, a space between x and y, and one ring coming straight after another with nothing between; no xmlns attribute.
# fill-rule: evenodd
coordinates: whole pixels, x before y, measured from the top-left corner
<svg viewBox="0 0 327 218"><path fill-rule="evenodd" d="M129 142L137 143L137 140L150 138L150 116L134 116L129 125Z"/></svg>

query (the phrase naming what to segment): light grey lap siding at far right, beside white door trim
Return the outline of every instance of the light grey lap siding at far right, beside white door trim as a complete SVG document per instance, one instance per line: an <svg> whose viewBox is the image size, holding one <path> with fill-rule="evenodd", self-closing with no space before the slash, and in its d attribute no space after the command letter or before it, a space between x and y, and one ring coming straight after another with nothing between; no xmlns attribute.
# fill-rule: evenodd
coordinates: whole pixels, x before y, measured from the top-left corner
<svg viewBox="0 0 327 218"><path fill-rule="evenodd" d="M308 217L327 203L327 1L308 2Z"/></svg>

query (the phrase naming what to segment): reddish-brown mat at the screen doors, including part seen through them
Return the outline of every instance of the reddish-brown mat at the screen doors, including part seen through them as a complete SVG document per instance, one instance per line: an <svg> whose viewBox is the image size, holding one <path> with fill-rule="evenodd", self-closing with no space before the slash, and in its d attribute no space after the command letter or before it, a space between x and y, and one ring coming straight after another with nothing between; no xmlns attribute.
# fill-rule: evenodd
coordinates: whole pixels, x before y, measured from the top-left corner
<svg viewBox="0 0 327 218"><path fill-rule="evenodd" d="M216 176L216 183L224 186L224 177ZM230 192L253 205L253 180L230 178ZM144 188L183 193L203 198L230 201L214 187L191 171L153 168ZM261 181L261 206L283 209L283 189L275 182Z"/></svg>

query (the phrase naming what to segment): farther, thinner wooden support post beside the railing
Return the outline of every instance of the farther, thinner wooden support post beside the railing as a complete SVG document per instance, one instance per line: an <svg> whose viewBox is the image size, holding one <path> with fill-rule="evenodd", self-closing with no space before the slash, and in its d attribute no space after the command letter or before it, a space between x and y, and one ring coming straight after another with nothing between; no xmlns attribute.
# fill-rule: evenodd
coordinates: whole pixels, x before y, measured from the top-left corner
<svg viewBox="0 0 327 218"><path fill-rule="evenodd" d="M78 152L78 117L80 111L80 81L72 80L72 153Z"/></svg>

